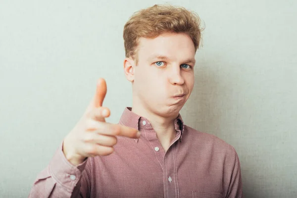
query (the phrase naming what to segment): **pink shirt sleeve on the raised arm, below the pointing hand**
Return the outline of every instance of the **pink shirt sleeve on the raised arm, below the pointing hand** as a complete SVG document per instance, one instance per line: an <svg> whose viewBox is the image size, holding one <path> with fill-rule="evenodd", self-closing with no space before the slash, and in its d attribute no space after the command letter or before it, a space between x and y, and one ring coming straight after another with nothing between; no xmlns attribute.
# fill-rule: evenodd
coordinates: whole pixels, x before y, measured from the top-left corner
<svg viewBox="0 0 297 198"><path fill-rule="evenodd" d="M91 163L71 164L63 153L63 142L49 165L42 170L28 198L88 198L90 196Z"/></svg>

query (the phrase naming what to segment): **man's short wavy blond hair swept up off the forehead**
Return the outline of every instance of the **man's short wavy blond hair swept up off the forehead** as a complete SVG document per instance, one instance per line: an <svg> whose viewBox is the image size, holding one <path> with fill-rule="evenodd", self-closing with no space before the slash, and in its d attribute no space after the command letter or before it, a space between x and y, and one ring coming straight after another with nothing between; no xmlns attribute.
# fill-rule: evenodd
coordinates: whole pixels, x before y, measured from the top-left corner
<svg viewBox="0 0 297 198"><path fill-rule="evenodd" d="M123 38L126 57L137 57L139 38L155 38L162 33L186 33L199 48L201 39L200 18L184 7L155 4L135 12L124 26Z"/></svg>

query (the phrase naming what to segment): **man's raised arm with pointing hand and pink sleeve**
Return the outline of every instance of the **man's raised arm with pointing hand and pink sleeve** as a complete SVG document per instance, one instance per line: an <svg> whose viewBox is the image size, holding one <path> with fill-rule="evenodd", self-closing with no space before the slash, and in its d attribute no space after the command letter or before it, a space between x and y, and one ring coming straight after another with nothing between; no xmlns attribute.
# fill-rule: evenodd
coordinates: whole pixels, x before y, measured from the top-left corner
<svg viewBox="0 0 297 198"><path fill-rule="evenodd" d="M48 167L38 175L29 198L90 197L92 158L89 157L111 154L116 136L140 137L137 129L105 122L110 115L110 110L102 107L106 90L105 80L99 79L95 96Z"/></svg>

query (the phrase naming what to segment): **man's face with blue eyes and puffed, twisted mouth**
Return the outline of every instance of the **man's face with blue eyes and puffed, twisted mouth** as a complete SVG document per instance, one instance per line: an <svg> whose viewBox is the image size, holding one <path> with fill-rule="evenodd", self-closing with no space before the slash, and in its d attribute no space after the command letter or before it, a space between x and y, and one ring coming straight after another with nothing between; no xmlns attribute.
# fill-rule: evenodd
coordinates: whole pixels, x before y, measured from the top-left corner
<svg viewBox="0 0 297 198"><path fill-rule="evenodd" d="M177 115L194 87L195 47L185 33L140 38L133 94L147 110ZM184 95L182 97L175 97Z"/></svg>

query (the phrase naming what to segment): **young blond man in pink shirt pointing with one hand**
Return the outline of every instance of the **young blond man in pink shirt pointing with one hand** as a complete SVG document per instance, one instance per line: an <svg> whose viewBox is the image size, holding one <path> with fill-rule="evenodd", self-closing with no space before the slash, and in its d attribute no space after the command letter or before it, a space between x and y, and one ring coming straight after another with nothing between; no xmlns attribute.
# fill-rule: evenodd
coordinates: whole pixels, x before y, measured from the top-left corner
<svg viewBox="0 0 297 198"><path fill-rule="evenodd" d="M65 137L29 197L241 198L240 162L219 138L185 125L179 111L194 87L199 18L154 5L124 27L124 71L133 106L105 122L106 84Z"/></svg>

